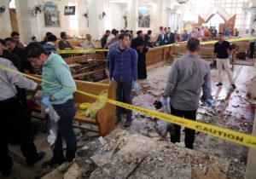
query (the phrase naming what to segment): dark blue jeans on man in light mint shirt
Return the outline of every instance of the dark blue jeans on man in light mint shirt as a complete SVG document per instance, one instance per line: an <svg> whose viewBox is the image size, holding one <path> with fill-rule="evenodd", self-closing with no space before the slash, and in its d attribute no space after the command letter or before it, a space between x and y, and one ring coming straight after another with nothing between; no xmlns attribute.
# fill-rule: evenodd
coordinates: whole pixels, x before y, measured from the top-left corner
<svg viewBox="0 0 256 179"><path fill-rule="evenodd" d="M54 158L64 159L62 148L62 137L67 143L66 158L72 160L77 151L77 138L73 130L73 117L75 116L76 109L74 107L73 99L66 101L60 105L53 105L56 113L59 114L60 120L58 122L58 136L55 141Z"/></svg>

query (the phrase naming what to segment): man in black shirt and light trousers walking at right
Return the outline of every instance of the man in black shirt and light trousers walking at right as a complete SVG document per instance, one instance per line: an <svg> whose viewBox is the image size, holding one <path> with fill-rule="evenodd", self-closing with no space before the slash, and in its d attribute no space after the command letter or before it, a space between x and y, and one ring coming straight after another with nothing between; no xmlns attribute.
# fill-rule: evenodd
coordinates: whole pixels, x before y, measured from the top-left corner
<svg viewBox="0 0 256 179"><path fill-rule="evenodd" d="M229 53L228 53L229 52ZM230 60L232 59L232 48L228 41L224 41L223 34L218 33L218 42L214 44L214 55L213 59L217 57L217 68L218 68L218 84L217 86L223 85L223 69L228 73L228 78L233 89L236 89L236 84L233 79L232 72L230 70Z"/></svg>

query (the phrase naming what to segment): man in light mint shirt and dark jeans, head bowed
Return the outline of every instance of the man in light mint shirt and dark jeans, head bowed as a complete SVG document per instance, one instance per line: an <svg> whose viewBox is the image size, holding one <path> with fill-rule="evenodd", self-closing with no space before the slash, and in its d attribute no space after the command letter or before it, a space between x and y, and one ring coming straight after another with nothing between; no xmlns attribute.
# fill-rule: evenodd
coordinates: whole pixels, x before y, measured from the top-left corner
<svg viewBox="0 0 256 179"><path fill-rule="evenodd" d="M48 107L51 103L60 116L58 136L53 150L54 155L52 159L43 164L43 167L53 167L64 162L62 137L67 143L66 161L71 162L77 150L77 141L73 130L73 117L75 115L73 92L76 90L76 84L69 67L60 55L48 54L39 43L27 45L26 58L38 66L43 65L43 80L59 85L42 83L43 105Z"/></svg>

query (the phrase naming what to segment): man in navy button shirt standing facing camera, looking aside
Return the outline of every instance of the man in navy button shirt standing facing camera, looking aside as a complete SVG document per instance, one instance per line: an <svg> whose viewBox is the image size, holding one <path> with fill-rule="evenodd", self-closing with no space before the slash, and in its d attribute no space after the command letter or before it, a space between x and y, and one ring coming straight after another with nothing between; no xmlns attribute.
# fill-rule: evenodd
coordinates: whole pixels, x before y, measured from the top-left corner
<svg viewBox="0 0 256 179"><path fill-rule="evenodd" d="M116 98L131 104L132 80L134 88L138 92L137 84L137 52L129 47L130 38L128 34L119 35L119 47L109 52L109 83L117 82ZM123 96L124 95L124 96ZM116 124L121 121L122 107L116 107ZM131 110L126 109L125 127L131 125Z"/></svg>

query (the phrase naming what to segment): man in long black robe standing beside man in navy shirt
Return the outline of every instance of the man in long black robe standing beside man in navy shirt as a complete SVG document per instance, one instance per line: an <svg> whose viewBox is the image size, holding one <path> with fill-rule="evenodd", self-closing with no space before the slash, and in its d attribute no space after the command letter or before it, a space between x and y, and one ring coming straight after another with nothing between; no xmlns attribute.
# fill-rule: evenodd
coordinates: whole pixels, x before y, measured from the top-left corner
<svg viewBox="0 0 256 179"><path fill-rule="evenodd" d="M137 78L145 79L147 78L146 53L148 46L145 46L142 31L137 32L137 38L132 41L131 48L137 50Z"/></svg>

